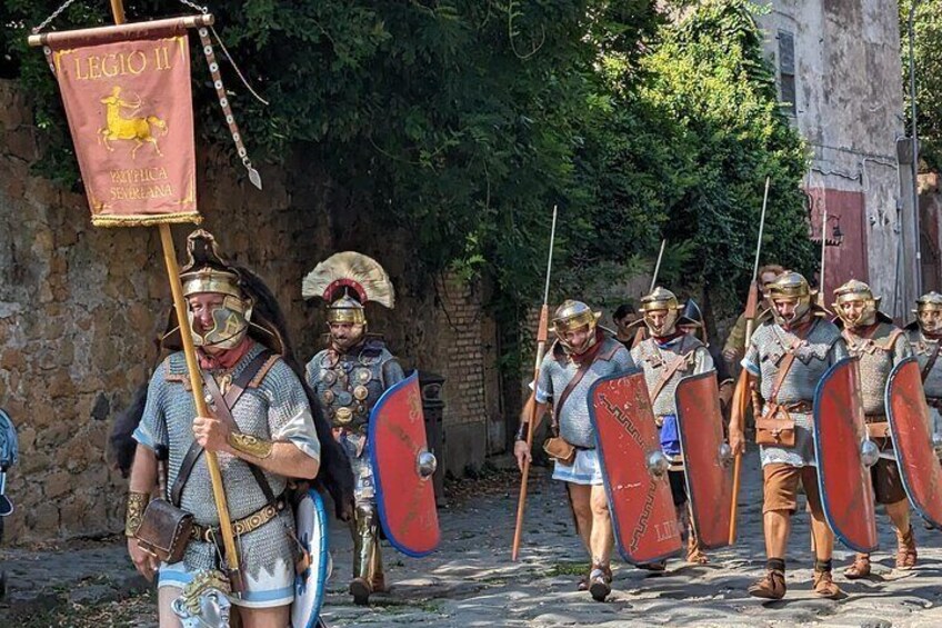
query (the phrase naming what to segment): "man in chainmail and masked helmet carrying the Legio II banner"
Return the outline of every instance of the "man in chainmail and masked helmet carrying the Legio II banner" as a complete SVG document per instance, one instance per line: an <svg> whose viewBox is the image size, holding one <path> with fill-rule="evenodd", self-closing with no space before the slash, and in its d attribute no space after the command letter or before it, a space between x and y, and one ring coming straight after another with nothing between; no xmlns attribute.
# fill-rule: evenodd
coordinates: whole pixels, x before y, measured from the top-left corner
<svg viewBox="0 0 942 628"><path fill-rule="evenodd" d="M173 501L179 499L179 507L193 515L196 526L179 562L157 565L134 538L129 538L128 550L148 578L157 572L161 625L171 625L171 605L182 589L201 574L221 567L219 516L201 448L216 451L229 514L239 535L244 584L241 597L232 604L244 626L284 626L294 599L300 548L283 494L289 478L317 476L320 442L301 380L279 353L249 335L254 325L253 301L243 291L240 275L221 260L214 239L206 231L191 235L188 249L190 263L180 278L206 382L201 393L212 398L212 389L218 388L226 396L239 386L247 369L254 375L244 382L229 419L222 412L197 417L182 351L172 352L156 369L143 416L133 432L139 447L131 468L126 534L133 537L158 486L154 451L159 447L169 451L169 477L163 486L172 487L168 492L179 496ZM194 259L194 250L202 251L199 259ZM168 336L179 332L176 327ZM189 451L198 457L189 472L182 471L181 485L178 478ZM260 469L259 476L250 465ZM265 496L262 484L267 484L273 500ZM171 495L163 497L170 499Z"/></svg>

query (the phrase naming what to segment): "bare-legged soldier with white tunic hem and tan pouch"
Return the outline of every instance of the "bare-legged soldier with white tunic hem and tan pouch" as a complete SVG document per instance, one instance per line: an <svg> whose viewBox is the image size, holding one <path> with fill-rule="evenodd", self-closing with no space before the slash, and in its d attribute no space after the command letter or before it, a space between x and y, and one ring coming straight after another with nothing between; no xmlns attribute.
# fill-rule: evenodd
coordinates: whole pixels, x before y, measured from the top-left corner
<svg viewBox="0 0 942 628"><path fill-rule="evenodd" d="M614 534L589 417L589 391L599 379L629 370L634 362L628 349L597 325L599 317L581 301L567 300L557 309L552 323L557 339L543 358L534 395L521 415L513 452L522 469L530 458L531 403L537 403L534 430L552 403L558 447L544 449L553 457L553 479L565 482L577 531L592 560L579 590L589 590L593 599L603 601L611 592Z"/></svg>

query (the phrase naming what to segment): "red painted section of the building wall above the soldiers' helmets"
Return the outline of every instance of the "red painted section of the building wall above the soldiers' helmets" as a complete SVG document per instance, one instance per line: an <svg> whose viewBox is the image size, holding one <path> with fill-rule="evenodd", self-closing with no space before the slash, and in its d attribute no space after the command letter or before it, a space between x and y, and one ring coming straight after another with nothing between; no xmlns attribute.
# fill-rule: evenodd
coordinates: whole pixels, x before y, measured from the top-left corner
<svg viewBox="0 0 942 628"><path fill-rule="evenodd" d="M834 226L844 235L840 247L828 247L824 252L824 302L830 308L834 289L850 279L869 280L866 263L866 228L863 192L811 188L805 190L811 202L811 237L820 247L821 219L828 210L826 235L833 239ZM821 250L818 250L821 259Z"/></svg>

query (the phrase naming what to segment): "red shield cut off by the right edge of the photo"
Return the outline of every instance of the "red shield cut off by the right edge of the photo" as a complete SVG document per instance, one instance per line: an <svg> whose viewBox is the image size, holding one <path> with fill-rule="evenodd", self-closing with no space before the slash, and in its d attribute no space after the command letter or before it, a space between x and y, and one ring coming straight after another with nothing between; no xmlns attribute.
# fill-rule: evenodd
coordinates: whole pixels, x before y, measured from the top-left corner
<svg viewBox="0 0 942 628"><path fill-rule="evenodd" d="M932 421L915 358L902 360L890 372L885 403L896 462L910 502L922 518L942 528L942 467L932 443Z"/></svg>

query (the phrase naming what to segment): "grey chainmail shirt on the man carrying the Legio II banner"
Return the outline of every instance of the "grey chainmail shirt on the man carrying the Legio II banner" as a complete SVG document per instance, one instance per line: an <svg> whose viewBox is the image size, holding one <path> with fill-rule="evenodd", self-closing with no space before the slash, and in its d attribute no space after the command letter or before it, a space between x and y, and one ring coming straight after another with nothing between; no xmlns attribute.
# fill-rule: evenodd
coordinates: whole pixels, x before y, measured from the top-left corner
<svg viewBox="0 0 942 628"><path fill-rule="evenodd" d="M234 369L226 373L210 375L218 381L222 377L230 377L232 381L262 350L261 345L254 343ZM143 417L134 431L134 439L144 447L153 449L157 443L168 446L168 490L173 487L180 465L193 442L192 422L197 409L188 388L189 376L183 353L172 353L163 360L151 378ZM203 387L203 395L208 392ZM243 433L265 440L289 441L311 458L320 459L320 442L307 395L294 371L282 360L277 360L255 387L250 385L245 388L231 412ZM217 458L233 521L265 506L264 495L245 461L222 451L217 452ZM196 522L218 526L219 517L206 460L206 455L202 455L193 465L182 491L180 507L191 512ZM287 478L269 471L263 472L272 492L275 496L281 495L287 486ZM289 536L293 535L293 531L294 520L290 509L287 509L274 520L236 539L250 591L253 582L283 580L278 577L279 574L289 574L293 579L295 546ZM217 558L212 544L190 541L182 565L170 567L192 574L216 568ZM163 566L161 582L162 572ZM251 598L248 599L251 601Z"/></svg>

